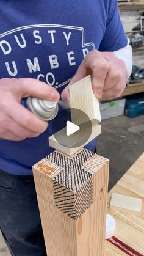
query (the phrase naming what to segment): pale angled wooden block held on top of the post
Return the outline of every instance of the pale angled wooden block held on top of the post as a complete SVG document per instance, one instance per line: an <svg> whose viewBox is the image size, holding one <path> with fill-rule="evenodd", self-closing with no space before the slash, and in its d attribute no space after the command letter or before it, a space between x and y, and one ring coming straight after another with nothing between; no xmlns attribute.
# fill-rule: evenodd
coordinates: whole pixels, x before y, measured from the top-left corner
<svg viewBox="0 0 144 256"><path fill-rule="evenodd" d="M72 156L101 133L101 125L98 125L101 122L99 101L92 90L91 76L87 76L70 86L70 107L71 121L79 125L80 130L69 137L66 136L66 128L63 128L49 137L49 145L60 152ZM77 115L74 109L81 110L84 115L82 112L81 115ZM89 120L87 120L87 117ZM90 130L88 123L91 123L91 133L88 131ZM87 137L88 133L90 133L90 136ZM86 140L84 141L85 137Z"/></svg>

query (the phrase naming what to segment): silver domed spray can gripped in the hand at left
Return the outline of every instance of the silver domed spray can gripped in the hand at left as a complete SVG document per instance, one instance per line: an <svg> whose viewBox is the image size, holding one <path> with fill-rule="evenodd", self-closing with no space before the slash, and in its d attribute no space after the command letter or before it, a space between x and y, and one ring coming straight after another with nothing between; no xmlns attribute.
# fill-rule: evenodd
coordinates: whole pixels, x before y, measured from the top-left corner
<svg viewBox="0 0 144 256"><path fill-rule="evenodd" d="M41 98L23 98L21 104L31 110L41 120L49 121L56 117L59 106L57 102L43 100Z"/></svg>

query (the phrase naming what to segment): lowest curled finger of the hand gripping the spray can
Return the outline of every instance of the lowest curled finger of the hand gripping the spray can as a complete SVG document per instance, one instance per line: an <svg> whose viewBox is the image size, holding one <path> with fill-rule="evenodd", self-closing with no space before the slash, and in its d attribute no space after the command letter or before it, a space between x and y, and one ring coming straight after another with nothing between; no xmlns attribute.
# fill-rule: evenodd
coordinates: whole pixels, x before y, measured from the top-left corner
<svg viewBox="0 0 144 256"><path fill-rule="evenodd" d="M40 135L40 133L33 133L32 131L27 130L26 128L23 128L22 126L18 125L17 123L13 122L13 120L10 120L10 128L9 131L15 134L15 136L21 137L21 138L32 138L37 137Z"/></svg>

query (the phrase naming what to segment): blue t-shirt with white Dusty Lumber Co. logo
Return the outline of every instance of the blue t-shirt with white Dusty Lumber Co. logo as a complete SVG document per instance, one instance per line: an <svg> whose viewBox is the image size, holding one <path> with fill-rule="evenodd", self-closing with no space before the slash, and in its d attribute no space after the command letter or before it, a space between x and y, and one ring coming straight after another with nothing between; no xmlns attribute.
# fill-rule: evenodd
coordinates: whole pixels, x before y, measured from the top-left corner
<svg viewBox="0 0 144 256"><path fill-rule="evenodd" d="M88 51L127 44L117 0L1 0L0 13L0 78L40 79L60 93ZM32 165L52 152L51 125L34 139L0 140L0 169L32 175Z"/></svg>

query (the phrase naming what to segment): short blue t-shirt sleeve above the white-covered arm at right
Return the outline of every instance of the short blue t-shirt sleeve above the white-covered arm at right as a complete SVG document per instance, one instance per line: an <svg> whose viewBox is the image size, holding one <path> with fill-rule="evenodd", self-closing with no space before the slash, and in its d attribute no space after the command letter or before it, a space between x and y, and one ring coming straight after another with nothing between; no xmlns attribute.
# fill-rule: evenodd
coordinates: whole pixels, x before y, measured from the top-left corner
<svg viewBox="0 0 144 256"><path fill-rule="evenodd" d="M121 24L117 0L109 1L106 31L99 46L99 51L117 51L127 45L127 38Z"/></svg>

